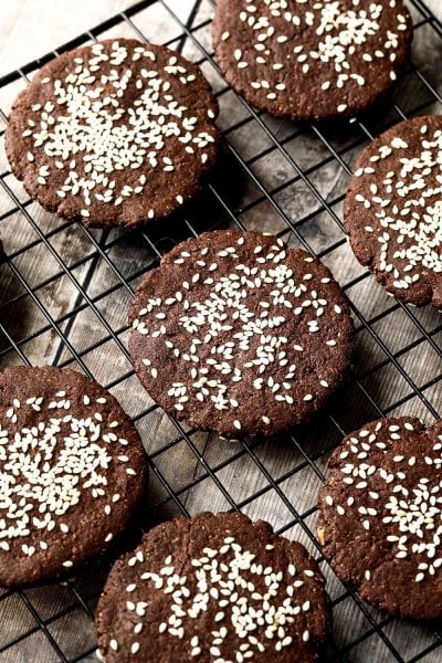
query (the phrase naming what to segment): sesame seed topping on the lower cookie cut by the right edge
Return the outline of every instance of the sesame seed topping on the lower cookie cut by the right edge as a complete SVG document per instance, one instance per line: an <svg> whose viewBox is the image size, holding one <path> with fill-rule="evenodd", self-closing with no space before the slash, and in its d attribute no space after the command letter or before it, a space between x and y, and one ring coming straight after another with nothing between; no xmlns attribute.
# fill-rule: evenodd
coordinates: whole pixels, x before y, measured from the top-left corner
<svg viewBox="0 0 442 663"><path fill-rule="evenodd" d="M346 501L343 496L348 495L348 490L335 491L333 496L325 494L327 508L336 509L339 515L336 540L339 540L338 523L343 518L343 536L347 536L344 533L348 533L349 522L352 537L362 536L358 533L359 526L365 532L375 528L370 545L365 546L365 564L372 560L375 568L379 564L378 548L383 549L388 541L382 564L394 559L399 565L404 560L415 582L434 576L442 565L439 477L442 443L434 442L432 429L415 433L414 427L404 419L381 420L346 438L343 446L346 451L339 454L340 464L332 471L329 485L338 487L335 482L347 483L351 476L358 482L354 484L358 493L354 492ZM417 449L422 450L419 455L413 453ZM324 491L327 490L326 484ZM344 545L343 540L340 544ZM370 578L370 571L366 570L365 579Z"/></svg>

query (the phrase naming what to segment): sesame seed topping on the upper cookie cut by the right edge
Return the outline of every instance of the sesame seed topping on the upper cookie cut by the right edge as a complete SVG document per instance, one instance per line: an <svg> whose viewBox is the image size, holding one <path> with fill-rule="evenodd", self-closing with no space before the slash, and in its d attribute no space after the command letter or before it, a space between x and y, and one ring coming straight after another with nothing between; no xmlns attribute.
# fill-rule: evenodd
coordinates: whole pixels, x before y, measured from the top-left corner
<svg viewBox="0 0 442 663"><path fill-rule="evenodd" d="M383 176L378 167L362 168L354 198L356 208L370 210L367 243L382 278L399 297L442 273L442 125L438 117L429 118L422 133L421 123L407 120L387 131L375 155L367 148ZM367 158L368 151L361 159Z"/></svg>

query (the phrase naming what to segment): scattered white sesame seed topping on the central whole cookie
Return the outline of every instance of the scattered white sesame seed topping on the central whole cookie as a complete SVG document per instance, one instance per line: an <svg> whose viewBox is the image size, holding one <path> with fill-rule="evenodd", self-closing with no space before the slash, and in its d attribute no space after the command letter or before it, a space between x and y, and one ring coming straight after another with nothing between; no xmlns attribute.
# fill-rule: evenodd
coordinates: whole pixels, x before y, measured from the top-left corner
<svg viewBox="0 0 442 663"><path fill-rule="evenodd" d="M322 336L330 317L335 320L345 309L340 299L327 301L323 293L330 280L312 261L305 255L295 275L284 242L272 236L256 242L248 234L228 236L225 245L201 246L198 240L190 240L186 248L177 249L171 263L177 265L172 288L161 297L143 293L131 324L131 333L140 339L146 386L151 386L152 393L162 389L154 380L164 372L164 362L170 361L173 378L166 394L168 408L179 419L186 420L194 404L201 403L217 420L228 421L228 430L244 434L252 417L243 415L244 396L238 389L243 380L270 406L285 410L299 407L303 400L312 402L308 409L315 409L320 400L316 394L329 389L335 373L325 361L320 375L308 371L305 391L299 394L298 375L309 357L303 356L299 335L294 338L293 314L306 327L301 338L317 335L327 357L330 350L324 344L340 349L346 333L338 340ZM256 301L253 308L250 297ZM298 367L291 359L294 351L299 355ZM272 420L266 411L256 413L262 430L277 421L271 407L269 412Z"/></svg>

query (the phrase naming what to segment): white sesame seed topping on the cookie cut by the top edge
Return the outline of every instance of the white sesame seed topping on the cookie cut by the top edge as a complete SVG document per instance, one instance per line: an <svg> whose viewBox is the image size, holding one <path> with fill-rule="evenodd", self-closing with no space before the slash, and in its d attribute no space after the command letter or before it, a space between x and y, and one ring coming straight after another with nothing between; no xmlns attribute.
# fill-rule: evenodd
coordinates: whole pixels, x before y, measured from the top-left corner
<svg viewBox="0 0 442 663"><path fill-rule="evenodd" d="M303 4L304 1L298 0L298 3ZM355 84L361 87L366 84L366 77L360 72L366 73L366 63L372 61L368 52L362 52L360 56L361 48L369 51L371 44L381 44L381 49L375 51L376 57L394 62L397 51L402 46L399 34L407 30L398 10L391 17L387 30L379 20L383 9L375 2L359 9L356 7L359 1L354 0L354 11L346 11L340 6L330 11L328 4L316 2L308 7L308 11L305 9L296 14L287 11L285 0L266 0L264 4L269 6L266 11L252 2L248 3L248 11L236 10L238 20L243 23L242 30L249 30L253 48L243 51L232 40L232 43L224 46L224 56L229 53L230 57L239 63L239 69L253 66L257 80L250 82L252 90L267 90L265 96L272 102L278 98L285 101L286 93L284 84L276 81L273 85L269 70L285 70L285 77L288 78L293 75L294 65L297 76L306 76L312 71L315 75L316 67L326 63L330 73L328 80L320 84L323 91L343 90ZM302 29L297 34L297 41L302 40L302 43L296 43L294 48L288 46L291 38L284 31L284 21L290 32L293 31L293 25ZM230 36L229 32L224 32L221 41L228 41ZM285 43L286 56L280 56L276 62L272 61L272 55L280 53L280 44ZM389 75L390 80L397 77L394 71L386 75ZM349 92L351 96L354 91ZM340 103L337 110L344 113L347 107L347 104Z"/></svg>

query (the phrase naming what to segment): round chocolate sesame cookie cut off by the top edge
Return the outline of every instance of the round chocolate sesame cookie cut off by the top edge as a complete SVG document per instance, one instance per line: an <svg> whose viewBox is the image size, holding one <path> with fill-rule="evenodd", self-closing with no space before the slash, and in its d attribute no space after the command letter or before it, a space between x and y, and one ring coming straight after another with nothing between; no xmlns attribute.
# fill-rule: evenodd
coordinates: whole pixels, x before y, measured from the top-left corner
<svg viewBox="0 0 442 663"><path fill-rule="evenodd" d="M212 34L233 90L303 120L369 107L407 64L413 30L402 0L218 0Z"/></svg>

